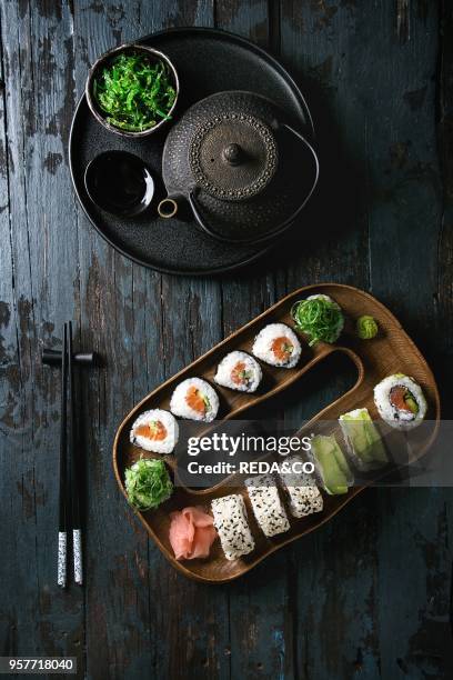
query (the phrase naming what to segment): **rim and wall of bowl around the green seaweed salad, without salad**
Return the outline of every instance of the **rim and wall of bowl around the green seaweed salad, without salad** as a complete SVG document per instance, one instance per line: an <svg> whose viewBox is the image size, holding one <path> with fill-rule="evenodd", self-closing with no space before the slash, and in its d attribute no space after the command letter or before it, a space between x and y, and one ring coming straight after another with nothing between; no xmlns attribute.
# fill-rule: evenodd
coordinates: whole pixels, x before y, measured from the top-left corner
<svg viewBox="0 0 453 680"><path fill-rule="evenodd" d="M109 123L105 120L104 113L100 110L99 104L95 101L95 97L93 94L93 82L94 82L94 79L95 79L97 74L99 73L99 71L101 69L103 69L103 67L113 57L117 57L118 54L121 54L121 53L123 53L123 54L131 54L131 53L132 54L137 54L137 53L141 53L141 54L144 54L145 57L148 57L148 59L151 60L151 61L163 61L163 63L167 64L167 67L168 67L168 69L170 71L170 74L172 77L172 80L173 80L174 90L177 92L173 106L171 107L171 109L168 112L168 114L170 117L174 112L175 106L178 103L178 98L179 98L180 83L179 83L179 78L178 78L178 71L174 68L173 63L170 61L170 59L167 57L167 54L164 54L163 52L160 52L159 50L154 50L153 48L150 48L150 47L148 47L145 44L134 44L134 43L121 44L118 48L109 50L104 54L101 54L101 57L99 57L99 59L97 59L94 61L93 66L91 67L90 72L89 72L88 78L87 78L85 97L87 97L88 106L90 107L90 111L94 116L95 120L98 122L100 122L101 126L103 126L104 128L110 130L110 132L114 132L115 134L120 134L121 137L130 137L130 138L133 138L133 139L141 139L142 137L149 137L150 134L152 134L157 130L160 130L163 126L169 123L170 120L163 118L153 128L148 128L147 130L142 130L141 132L132 132L130 130L122 130L121 128L117 128L115 126Z"/></svg>

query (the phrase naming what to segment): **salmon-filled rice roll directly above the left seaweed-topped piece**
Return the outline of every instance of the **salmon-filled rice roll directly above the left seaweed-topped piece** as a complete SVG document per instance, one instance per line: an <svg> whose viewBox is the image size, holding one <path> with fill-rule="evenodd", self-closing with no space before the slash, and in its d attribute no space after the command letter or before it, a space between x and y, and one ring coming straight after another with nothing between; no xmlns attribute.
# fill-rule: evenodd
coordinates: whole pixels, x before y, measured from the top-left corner
<svg viewBox="0 0 453 680"><path fill-rule="evenodd" d="M130 440L135 447L153 453L171 453L178 443L175 418L162 409L145 411L132 426Z"/></svg>

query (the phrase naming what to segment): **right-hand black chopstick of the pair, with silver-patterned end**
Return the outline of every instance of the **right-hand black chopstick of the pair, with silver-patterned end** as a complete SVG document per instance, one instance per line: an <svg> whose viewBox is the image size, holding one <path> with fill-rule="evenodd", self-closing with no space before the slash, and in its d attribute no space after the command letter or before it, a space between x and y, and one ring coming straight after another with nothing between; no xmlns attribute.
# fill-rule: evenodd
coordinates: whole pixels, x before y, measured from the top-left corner
<svg viewBox="0 0 453 680"><path fill-rule="evenodd" d="M80 498L79 498L79 478L76 461L76 410L74 410L74 381L73 381L73 360L72 360L72 323L68 323L68 408L70 413L69 427L69 466L70 466L70 490L71 490L71 520L72 520L72 551L73 551L73 568L74 581L79 586L83 582L82 571L82 528L80 521Z"/></svg>

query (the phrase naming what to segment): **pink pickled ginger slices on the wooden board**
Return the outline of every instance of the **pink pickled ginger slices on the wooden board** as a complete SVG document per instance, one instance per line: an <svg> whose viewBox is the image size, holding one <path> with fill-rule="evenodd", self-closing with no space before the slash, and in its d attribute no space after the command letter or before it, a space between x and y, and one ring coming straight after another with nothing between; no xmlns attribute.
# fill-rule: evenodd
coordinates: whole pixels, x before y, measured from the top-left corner
<svg viewBox="0 0 453 680"><path fill-rule="evenodd" d="M213 519L203 508L184 508L172 512L170 543L177 560L205 558L217 539Z"/></svg>

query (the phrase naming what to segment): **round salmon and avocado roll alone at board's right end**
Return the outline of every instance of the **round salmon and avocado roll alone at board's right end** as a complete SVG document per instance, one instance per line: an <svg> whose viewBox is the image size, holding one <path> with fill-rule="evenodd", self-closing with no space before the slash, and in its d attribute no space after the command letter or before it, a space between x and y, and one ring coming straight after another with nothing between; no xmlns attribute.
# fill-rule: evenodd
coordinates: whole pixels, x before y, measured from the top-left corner
<svg viewBox="0 0 453 680"><path fill-rule="evenodd" d="M426 416L426 400L413 378L395 373L374 388L379 414L390 427L399 430L416 428Z"/></svg>

